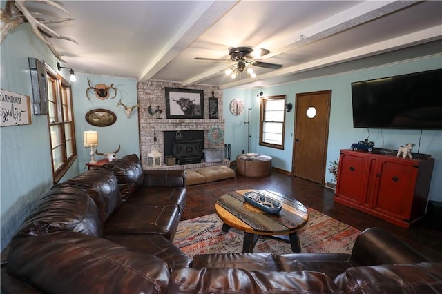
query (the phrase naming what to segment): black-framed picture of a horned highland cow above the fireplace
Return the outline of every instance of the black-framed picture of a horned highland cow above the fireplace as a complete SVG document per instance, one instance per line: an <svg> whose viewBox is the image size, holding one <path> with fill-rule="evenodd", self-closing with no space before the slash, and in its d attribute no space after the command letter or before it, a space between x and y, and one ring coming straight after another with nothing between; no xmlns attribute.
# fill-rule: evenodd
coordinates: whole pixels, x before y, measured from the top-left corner
<svg viewBox="0 0 442 294"><path fill-rule="evenodd" d="M166 118L204 119L203 90L166 88Z"/></svg>

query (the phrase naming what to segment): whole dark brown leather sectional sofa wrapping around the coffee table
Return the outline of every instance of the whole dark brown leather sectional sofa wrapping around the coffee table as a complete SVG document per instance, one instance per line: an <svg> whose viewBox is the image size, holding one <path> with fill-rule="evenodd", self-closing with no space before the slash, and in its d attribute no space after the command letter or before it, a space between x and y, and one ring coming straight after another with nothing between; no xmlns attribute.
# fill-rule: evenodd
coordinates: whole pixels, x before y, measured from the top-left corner
<svg viewBox="0 0 442 294"><path fill-rule="evenodd" d="M352 254L196 255L173 237L185 173L136 155L54 186L1 264L1 293L442 293L437 263L379 228Z"/></svg>

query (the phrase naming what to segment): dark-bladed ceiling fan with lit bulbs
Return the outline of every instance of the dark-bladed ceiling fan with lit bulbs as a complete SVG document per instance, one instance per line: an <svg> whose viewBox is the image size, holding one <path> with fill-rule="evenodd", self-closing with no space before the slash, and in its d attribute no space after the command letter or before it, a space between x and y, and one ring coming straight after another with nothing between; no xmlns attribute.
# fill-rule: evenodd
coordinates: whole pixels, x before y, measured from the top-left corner
<svg viewBox="0 0 442 294"><path fill-rule="evenodd" d="M267 49L257 48L253 49L250 46L231 47L229 48L230 59L213 59L204 57L195 57L198 60L209 61L235 61L236 64L226 70L226 75L231 75L232 79L236 78L240 72L247 72L251 77L256 77L252 68L249 66L260 66L261 68L271 68L277 70L281 68L281 64L267 63L258 61L263 55L268 54L270 51Z"/></svg>

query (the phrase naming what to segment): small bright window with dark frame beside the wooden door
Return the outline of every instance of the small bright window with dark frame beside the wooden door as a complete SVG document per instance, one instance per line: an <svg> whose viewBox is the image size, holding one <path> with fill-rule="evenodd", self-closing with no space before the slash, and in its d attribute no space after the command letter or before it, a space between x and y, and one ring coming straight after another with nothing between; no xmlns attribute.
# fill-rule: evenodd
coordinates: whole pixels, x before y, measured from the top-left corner
<svg viewBox="0 0 442 294"><path fill-rule="evenodd" d="M284 149L285 95L264 97L260 109L260 145Z"/></svg>

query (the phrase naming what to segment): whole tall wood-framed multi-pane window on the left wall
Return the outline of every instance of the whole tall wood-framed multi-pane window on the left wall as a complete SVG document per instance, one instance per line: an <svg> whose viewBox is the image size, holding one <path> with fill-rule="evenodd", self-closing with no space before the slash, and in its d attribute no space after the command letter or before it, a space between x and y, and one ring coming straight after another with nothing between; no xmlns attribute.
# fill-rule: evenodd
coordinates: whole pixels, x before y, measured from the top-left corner
<svg viewBox="0 0 442 294"><path fill-rule="evenodd" d="M54 182L58 182L77 158L70 84L46 65L48 126Z"/></svg>

